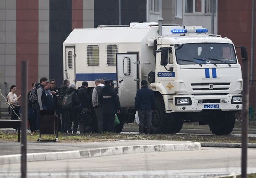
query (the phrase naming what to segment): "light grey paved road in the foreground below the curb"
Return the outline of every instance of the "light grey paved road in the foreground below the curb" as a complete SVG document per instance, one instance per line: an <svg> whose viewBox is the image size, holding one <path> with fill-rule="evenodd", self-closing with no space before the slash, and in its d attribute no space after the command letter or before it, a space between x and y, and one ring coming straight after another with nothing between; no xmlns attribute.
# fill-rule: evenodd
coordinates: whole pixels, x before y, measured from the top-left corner
<svg viewBox="0 0 256 178"><path fill-rule="evenodd" d="M240 173L241 149L136 153L27 164L28 178L209 178ZM256 149L248 150L248 172L256 172ZM20 164L0 165L0 177L20 176Z"/></svg>

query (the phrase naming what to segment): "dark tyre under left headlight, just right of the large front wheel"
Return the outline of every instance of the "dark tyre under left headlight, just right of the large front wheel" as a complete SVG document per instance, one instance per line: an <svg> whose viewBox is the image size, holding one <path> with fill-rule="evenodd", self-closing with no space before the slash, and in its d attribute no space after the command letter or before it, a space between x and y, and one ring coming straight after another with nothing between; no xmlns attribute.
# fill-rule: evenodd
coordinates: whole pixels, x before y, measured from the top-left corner
<svg viewBox="0 0 256 178"><path fill-rule="evenodd" d="M176 134L180 132L183 125L183 119L177 113L170 113L167 115L165 126L165 132L168 134Z"/></svg>

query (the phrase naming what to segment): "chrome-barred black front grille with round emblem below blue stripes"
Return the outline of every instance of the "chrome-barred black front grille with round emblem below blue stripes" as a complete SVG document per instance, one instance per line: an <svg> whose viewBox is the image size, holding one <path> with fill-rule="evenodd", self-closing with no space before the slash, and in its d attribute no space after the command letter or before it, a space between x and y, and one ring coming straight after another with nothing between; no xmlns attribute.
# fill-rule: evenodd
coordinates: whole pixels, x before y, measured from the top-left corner
<svg viewBox="0 0 256 178"><path fill-rule="evenodd" d="M230 83L191 83L194 91L228 90Z"/></svg>

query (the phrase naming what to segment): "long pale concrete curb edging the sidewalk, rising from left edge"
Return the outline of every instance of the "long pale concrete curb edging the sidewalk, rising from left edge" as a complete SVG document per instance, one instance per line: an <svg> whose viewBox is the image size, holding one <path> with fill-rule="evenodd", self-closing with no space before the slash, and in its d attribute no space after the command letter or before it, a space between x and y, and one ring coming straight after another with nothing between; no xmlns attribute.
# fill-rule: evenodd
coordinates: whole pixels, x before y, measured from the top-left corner
<svg viewBox="0 0 256 178"><path fill-rule="evenodd" d="M27 162L34 161L54 161L60 159L89 158L99 156L111 156L118 154L146 153L146 152L168 152L200 150L201 145L198 142L181 144L157 144L157 145L136 145L136 146L117 146L107 148L96 148L87 150L63 151L63 152L45 152L45 153L27 153ZM0 164L20 163L21 154L0 156Z"/></svg>

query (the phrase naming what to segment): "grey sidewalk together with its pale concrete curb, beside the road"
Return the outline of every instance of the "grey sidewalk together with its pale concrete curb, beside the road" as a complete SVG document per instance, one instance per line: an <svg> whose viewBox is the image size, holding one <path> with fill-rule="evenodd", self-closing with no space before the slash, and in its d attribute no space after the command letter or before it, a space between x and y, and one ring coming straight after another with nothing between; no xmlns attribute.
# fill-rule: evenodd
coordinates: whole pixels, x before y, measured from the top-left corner
<svg viewBox="0 0 256 178"><path fill-rule="evenodd" d="M200 150L198 142L116 140L88 143L27 143L27 161L49 161L117 154ZM20 163L20 143L0 142L0 164Z"/></svg>

